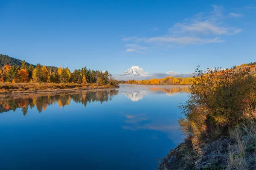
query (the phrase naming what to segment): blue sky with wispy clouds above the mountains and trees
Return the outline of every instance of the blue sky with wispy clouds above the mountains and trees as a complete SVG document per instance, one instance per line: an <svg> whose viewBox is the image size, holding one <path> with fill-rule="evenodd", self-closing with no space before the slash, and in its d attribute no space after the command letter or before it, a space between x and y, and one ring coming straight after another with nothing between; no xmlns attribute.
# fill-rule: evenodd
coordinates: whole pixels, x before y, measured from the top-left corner
<svg viewBox="0 0 256 170"><path fill-rule="evenodd" d="M121 74L256 61L255 0L0 0L0 53Z"/></svg>

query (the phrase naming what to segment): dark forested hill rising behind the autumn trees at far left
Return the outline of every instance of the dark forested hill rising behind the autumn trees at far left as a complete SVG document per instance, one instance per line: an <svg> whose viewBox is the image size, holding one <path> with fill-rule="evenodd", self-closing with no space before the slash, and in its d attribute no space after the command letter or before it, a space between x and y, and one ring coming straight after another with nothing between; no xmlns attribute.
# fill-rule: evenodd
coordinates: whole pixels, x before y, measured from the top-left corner
<svg viewBox="0 0 256 170"><path fill-rule="evenodd" d="M30 63L26 62L27 65L30 65ZM4 65L10 65L10 66L18 66L22 64L22 60L20 59L15 59L13 57L9 57L7 55L4 54L0 54L0 68L2 68ZM32 64L33 65L33 64ZM35 65L33 65L35 67ZM57 67L54 66L47 66L47 68L52 68L53 70L58 70Z"/></svg>

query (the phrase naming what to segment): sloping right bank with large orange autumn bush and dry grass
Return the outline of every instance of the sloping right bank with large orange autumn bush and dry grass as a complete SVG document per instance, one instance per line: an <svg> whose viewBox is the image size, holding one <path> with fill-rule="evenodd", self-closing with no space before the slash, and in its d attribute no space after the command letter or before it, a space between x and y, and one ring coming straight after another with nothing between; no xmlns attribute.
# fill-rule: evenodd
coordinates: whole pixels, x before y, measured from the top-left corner
<svg viewBox="0 0 256 170"><path fill-rule="evenodd" d="M250 68L199 69L180 106L186 139L160 160L159 170L255 170L256 78Z"/></svg>

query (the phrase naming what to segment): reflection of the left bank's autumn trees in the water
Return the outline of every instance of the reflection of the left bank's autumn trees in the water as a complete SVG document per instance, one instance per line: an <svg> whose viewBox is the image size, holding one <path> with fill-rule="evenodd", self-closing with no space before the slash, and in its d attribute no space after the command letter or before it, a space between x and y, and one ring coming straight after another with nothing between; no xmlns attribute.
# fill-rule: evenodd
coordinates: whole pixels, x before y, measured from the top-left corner
<svg viewBox="0 0 256 170"><path fill-rule="evenodd" d="M74 91L61 93L44 93L44 94L21 94L21 95L2 95L0 96L0 113L15 111L21 108L25 116L28 108L36 107L41 113L47 109L47 106L58 103L62 108L70 104L71 99L76 103L84 106L90 102L108 102L113 96L118 94L118 90L97 90L97 91Z"/></svg>

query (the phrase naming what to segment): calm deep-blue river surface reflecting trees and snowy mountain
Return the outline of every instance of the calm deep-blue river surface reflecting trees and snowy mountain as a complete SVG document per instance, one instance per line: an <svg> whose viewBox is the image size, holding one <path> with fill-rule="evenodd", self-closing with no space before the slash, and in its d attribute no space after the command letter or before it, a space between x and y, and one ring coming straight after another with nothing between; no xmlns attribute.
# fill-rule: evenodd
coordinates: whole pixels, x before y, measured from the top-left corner
<svg viewBox="0 0 256 170"><path fill-rule="evenodd" d="M0 96L0 169L155 170L183 140L186 85Z"/></svg>

